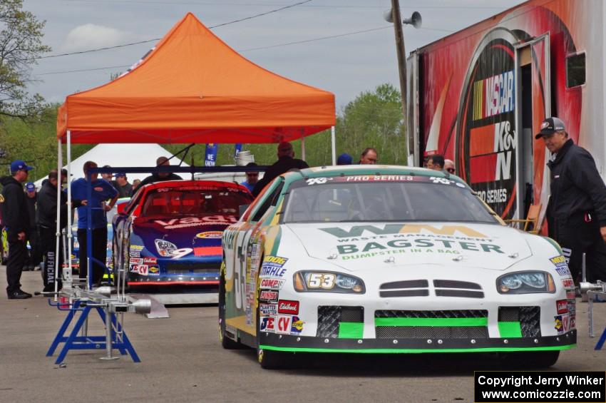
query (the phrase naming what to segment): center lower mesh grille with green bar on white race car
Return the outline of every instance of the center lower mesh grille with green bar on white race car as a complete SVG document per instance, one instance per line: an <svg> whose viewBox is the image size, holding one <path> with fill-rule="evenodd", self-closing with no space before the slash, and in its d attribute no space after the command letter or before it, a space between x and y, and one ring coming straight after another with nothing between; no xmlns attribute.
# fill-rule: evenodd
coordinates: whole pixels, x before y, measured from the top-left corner
<svg viewBox="0 0 606 403"><path fill-rule="evenodd" d="M469 325L467 322L457 326L456 322L450 322L453 325L439 326L438 320L483 320L488 319L487 310L440 310L440 311L401 311L401 310L377 310L374 312L376 337L384 338L403 338L403 339L431 339L431 338L483 338L488 337L488 327L483 325ZM436 320L431 325L381 325L384 320L389 319L410 319L411 323L418 320ZM417 320L417 321L415 321ZM443 321L444 322L444 321ZM448 322L448 321L445 321Z"/></svg>

